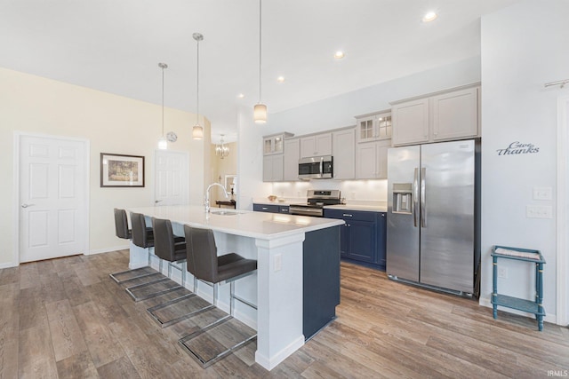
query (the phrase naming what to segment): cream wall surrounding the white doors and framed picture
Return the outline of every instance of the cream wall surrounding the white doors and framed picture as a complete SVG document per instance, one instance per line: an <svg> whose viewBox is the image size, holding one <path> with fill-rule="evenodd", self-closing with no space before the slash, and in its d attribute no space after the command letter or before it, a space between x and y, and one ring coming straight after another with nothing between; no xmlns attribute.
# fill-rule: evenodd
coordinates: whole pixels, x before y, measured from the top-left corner
<svg viewBox="0 0 569 379"><path fill-rule="evenodd" d="M156 83L159 88L159 83ZM89 251L108 251L127 246L115 237L113 208L152 205L154 201L154 152L162 133L162 108L101 91L61 83L35 75L0 68L0 267L18 265L12 259L15 246L13 183L13 133L85 138L90 141ZM164 109L166 131L178 134L172 150L189 152L189 201L202 202L204 170L209 167L209 122L202 141L191 139L195 115ZM204 146L208 146L207 154ZM100 188L100 153L146 157L146 186Z"/></svg>

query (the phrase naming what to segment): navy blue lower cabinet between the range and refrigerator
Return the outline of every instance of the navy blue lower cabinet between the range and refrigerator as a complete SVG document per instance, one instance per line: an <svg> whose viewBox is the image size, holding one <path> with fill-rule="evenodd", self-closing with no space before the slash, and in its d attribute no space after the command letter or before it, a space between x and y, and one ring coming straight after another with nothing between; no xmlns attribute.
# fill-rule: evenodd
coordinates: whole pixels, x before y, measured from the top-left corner
<svg viewBox="0 0 569 379"><path fill-rule="evenodd" d="M386 214L344 209L324 209L324 217L339 218L341 226L341 257L343 259L385 270Z"/></svg>

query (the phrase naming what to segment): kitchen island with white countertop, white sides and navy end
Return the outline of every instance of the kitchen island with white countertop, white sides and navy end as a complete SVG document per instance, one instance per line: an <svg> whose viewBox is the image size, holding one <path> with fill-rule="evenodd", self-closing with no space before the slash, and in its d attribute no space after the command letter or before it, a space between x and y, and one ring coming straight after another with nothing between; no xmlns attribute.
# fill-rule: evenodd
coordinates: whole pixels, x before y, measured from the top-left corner
<svg viewBox="0 0 569 379"><path fill-rule="evenodd" d="M245 306L241 309L236 307L235 316L249 325L251 320L256 320L255 361L268 370L304 344L306 318L318 318L318 315L306 314L307 304L303 302L312 302L307 296L315 300L328 297L335 304L339 303L340 248L338 243L328 242L339 240L339 226L344 224L342 220L233 209L212 209L211 213L205 213L204 208L196 206L128 210L146 217L169 219L173 232L179 235L183 235L183 225L210 228L220 255L236 252L242 257L257 259L256 274L236 283L236 295L252 303L256 300L258 310L255 314L244 309ZM147 265L146 249L131 244L129 266L133 269L143 265ZM313 272L305 272L305 265ZM321 265L328 266L319 270ZM333 270L330 265L333 265ZM305 284L307 273L311 279L308 285ZM335 283L333 288L320 286L316 290L323 293L315 294L314 286L322 281L314 280L318 276L322 280L330 279ZM228 286L220 288L220 299L224 296L224 289L228 295L228 288L224 287ZM313 289L312 295L307 292L310 289ZM202 296L199 287L197 294ZM318 307L313 307L312 311ZM329 321L326 320L321 321L324 323L322 327Z"/></svg>

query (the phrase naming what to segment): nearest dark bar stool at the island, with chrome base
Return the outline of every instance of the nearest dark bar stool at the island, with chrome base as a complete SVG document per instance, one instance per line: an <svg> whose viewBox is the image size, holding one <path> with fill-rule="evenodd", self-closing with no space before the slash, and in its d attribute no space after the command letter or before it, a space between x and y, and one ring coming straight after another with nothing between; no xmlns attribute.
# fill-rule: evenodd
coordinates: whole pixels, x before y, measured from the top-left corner
<svg viewBox="0 0 569 379"><path fill-rule="evenodd" d="M203 359L198 353L196 353L196 351L193 351L186 344L205 331L232 319L235 300L257 309L254 304L251 304L243 298L235 296L235 281L244 278L257 270L257 261L254 259L245 259L236 253L228 253L218 257L217 246L215 245L215 238L211 229L202 229L184 225L184 234L186 235L186 250L188 252L188 259L186 262L188 272L193 274L197 280L203 281L213 287L213 305L217 306L218 286L221 283L227 282L230 285L230 306L228 316L215 320L208 326L201 328L188 336L184 336L178 341L181 347L188 351L188 353L200 362L203 367L208 367L217 360L227 356L231 351L235 351L237 348L257 337L255 334L254 336L246 338L244 341L236 343L226 351L222 351L220 354L208 360Z"/></svg>

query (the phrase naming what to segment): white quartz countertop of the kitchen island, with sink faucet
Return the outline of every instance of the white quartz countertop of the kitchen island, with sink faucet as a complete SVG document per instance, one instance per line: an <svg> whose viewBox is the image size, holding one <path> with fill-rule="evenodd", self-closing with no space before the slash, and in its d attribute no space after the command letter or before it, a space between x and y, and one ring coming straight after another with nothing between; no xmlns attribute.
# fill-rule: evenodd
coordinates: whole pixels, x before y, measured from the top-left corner
<svg viewBox="0 0 569 379"><path fill-rule="evenodd" d="M344 224L343 220L331 218L293 216L249 210L212 208L212 212L206 214L204 207L187 205L129 208L128 210L142 213L148 217L169 219L179 224L205 227L221 233L261 240L273 240ZM216 214L220 211L230 215Z"/></svg>

